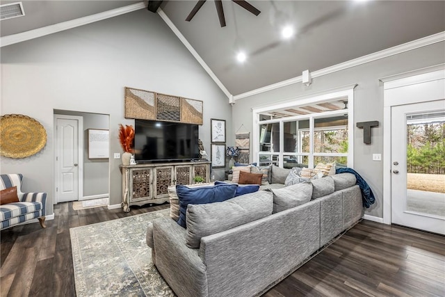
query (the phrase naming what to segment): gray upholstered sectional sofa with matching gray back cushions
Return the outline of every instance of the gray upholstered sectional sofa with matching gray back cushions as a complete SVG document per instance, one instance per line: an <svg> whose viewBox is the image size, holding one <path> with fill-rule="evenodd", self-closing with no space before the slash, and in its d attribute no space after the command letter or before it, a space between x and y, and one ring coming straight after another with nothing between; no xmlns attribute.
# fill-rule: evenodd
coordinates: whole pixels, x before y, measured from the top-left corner
<svg viewBox="0 0 445 297"><path fill-rule="evenodd" d="M188 204L187 229L156 218L152 260L177 296L258 296L362 218L350 173ZM192 248L191 248L192 247Z"/></svg>

